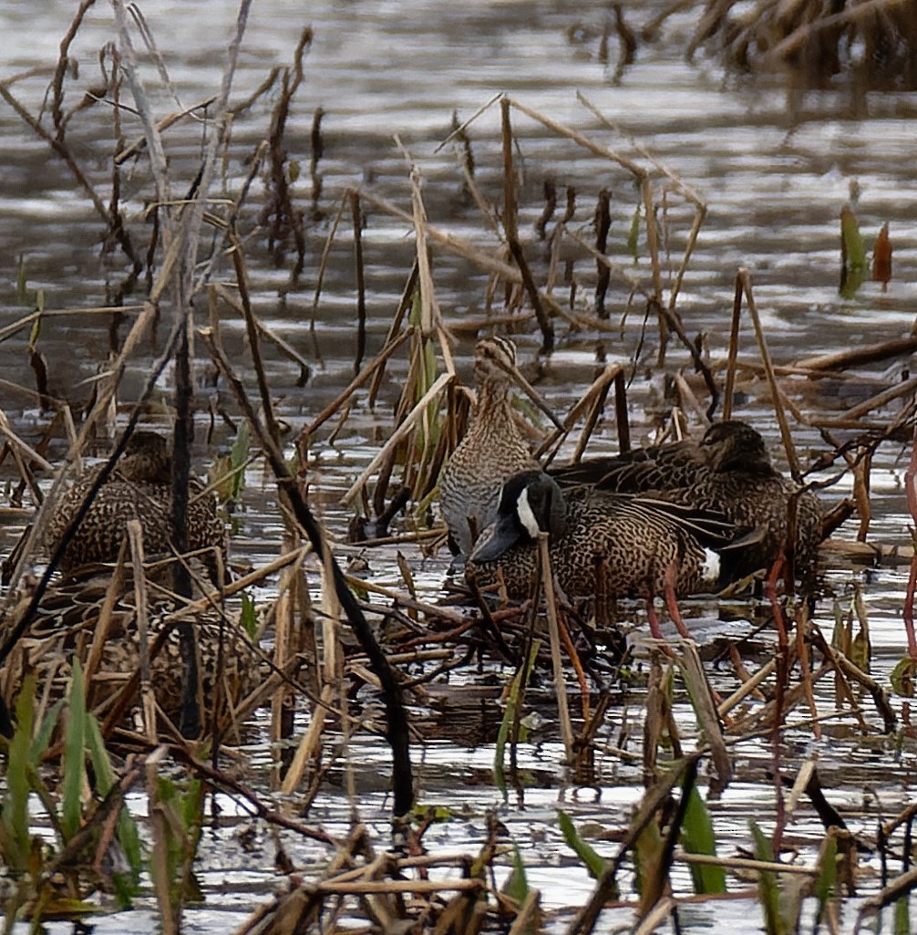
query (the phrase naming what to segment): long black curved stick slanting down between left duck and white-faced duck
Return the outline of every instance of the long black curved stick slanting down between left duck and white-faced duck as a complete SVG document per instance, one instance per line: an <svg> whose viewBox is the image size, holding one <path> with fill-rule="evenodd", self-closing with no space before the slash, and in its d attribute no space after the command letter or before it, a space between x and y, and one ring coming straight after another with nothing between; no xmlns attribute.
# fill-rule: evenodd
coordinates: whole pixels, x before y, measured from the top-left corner
<svg viewBox="0 0 917 935"><path fill-rule="evenodd" d="M251 424L251 430L259 440L265 457L270 462L277 479L279 489L290 498L290 505L294 512L296 522L302 526L306 532L312 548L316 554L322 555L327 565L331 568L332 577L335 583L335 592L340 602L341 608L350 621L353 632L360 645L363 647L370 666L379 678L382 687L382 694L385 698L385 710L387 715L386 737L392 747L392 787L394 793L394 816L400 818L408 813L414 800L413 777L410 764L410 749L408 746L408 715L405 712L401 699L401 688L394 676L394 671L389 665L385 654L380 650L379 643L373 637L372 629L366 622L363 611L354 597L353 592L347 586L340 566L335 557L330 554L327 542L324 539L322 530L315 522L308 504L300 493L294 477L290 474L283 454L279 451L273 439L265 431L261 420L258 419L255 411L251 408L248 395L245 392L241 381L233 370L232 365L226 358L225 352L219 347L214 339L213 333L209 328L202 330L201 336L208 346L208 351L213 357L214 363L222 372L223 378L230 384L233 393L236 396L236 402L240 409L245 413L246 418Z"/></svg>

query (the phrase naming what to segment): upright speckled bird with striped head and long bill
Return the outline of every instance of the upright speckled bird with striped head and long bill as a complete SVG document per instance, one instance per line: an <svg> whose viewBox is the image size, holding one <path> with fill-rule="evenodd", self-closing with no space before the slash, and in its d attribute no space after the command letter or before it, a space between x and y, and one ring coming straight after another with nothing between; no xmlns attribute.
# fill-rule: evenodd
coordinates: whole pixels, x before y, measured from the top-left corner
<svg viewBox="0 0 917 935"><path fill-rule="evenodd" d="M443 517L455 545L466 556L485 526L493 523L503 483L519 471L538 467L512 411L513 380L537 398L516 368L513 343L499 336L480 340L475 379L474 421L451 454L439 484Z"/></svg>

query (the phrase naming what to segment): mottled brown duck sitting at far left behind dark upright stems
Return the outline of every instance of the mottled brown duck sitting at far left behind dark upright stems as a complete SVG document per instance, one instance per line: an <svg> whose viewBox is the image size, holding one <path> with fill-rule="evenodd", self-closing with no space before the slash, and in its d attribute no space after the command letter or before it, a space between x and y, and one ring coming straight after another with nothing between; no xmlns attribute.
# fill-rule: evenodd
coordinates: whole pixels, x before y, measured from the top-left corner
<svg viewBox="0 0 917 935"><path fill-rule="evenodd" d="M86 493L101 466L87 468L61 497L45 532L45 548L53 551L64 529L79 511ZM186 513L188 549L209 549L202 558L217 580L218 550L225 567L227 538L225 525L217 515L216 500L203 494L203 485L193 479L188 491ZM60 563L62 571L94 562L118 558L128 520L138 519L143 527L146 554L167 552L171 531L171 453L164 436L137 431L129 439L115 470L99 489L89 510L70 540Z"/></svg>

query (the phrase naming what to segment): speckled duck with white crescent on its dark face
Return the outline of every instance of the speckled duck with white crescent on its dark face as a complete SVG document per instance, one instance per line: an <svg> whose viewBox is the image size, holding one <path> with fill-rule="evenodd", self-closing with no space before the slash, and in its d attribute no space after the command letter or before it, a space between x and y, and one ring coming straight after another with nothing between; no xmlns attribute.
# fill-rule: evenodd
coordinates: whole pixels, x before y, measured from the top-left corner
<svg viewBox="0 0 917 935"><path fill-rule="evenodd" d="M745 547L724 517L676 503L579 484L562 491L540 470L503 487L499 513L466 563L481 586L502 573L510 597L531 593L537 535L549 533L552 570L570 597L647 597L670 584L677 595L717 590L724 564ZM597 579L596 576L601 576Z"/></svg>

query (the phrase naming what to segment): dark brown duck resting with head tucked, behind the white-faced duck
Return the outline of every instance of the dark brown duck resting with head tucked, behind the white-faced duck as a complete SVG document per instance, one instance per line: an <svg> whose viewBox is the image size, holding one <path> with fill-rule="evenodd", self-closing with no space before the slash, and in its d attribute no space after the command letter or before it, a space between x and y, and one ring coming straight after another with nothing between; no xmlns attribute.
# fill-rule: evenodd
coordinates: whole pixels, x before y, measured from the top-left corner
<svg viewBox="0 0 917 935"><path fill-rule="evenodd" d="M824 507L815 494L770 463L761 434L738 420L710 425L700 442L681 441L617 457L552 469L562 485L588 482L599 491L652 494L723 513L758 531L742 553L738 575L769 568L781 554L796 511L795 566L807 572L822 540Z"/></svg>

